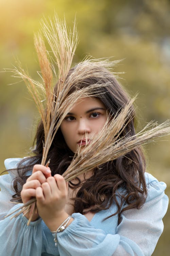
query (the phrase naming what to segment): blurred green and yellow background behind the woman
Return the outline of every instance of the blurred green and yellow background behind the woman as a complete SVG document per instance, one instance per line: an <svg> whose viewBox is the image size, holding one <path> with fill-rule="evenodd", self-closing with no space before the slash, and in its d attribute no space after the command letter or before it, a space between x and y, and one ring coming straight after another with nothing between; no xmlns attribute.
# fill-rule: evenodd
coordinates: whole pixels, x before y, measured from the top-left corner
<svg viewBox="0 0 170 256"><path fill-rule="evenodd" d="M65 15L71 27L76 15L79 45L74 62L86 55L124 59L114 71L124 72L119 81L131 96L139 93L138 129L151 120L161 123L170 118L170 1L0 0L0 71L19 59L38 79L33 35L41 18L54 11L60 18ZM9 72L0 73L1 171L4 159L29 155L38 118L24 83ZM167 183L170 196L170 137L145 148L148 171ZM169 255L170 212L164 226L154 256Z"/></svg>

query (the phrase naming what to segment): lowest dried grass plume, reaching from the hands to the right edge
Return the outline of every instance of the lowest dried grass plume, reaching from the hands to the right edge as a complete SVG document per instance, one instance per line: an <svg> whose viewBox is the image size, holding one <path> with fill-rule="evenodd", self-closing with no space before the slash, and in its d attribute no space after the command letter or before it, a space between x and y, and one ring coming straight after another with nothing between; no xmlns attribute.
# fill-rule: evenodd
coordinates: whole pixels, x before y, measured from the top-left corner
<svg viewBox="0 0 170 256"><path fill-rule="evenodd" d="M149 131L143 130L135 136L119 139L116 142L114 141L107 147L103 147L100 151L97 149L95 143L90 145L91 148L87 145L85 149L75 157L74 161L71 162L70 166L63 174L65 180L72 180L84 172L92 170L103 163L113 161L118 157L129 153L140 145L155 141L158 137L169 135L170 127L167 126L170 126L170 121L158 125ZM148 125L146 128L148 128Z"/></svg>

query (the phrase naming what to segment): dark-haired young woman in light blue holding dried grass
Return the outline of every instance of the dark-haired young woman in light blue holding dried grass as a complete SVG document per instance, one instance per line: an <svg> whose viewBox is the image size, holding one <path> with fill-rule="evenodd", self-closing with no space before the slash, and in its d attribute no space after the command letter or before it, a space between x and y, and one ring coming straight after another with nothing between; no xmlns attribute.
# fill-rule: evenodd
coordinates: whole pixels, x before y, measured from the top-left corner
<svg viewBox="0 0 170 256"><path fill-rule="evenodd" d="M34 156L5 160L6 169L13 170L0 176L0 255L149 256L163 232L162 218L168 207L166 184L146 172L141 147L69 183L62 177L78 147L82 150L90 144L107 117L114 116L129 101L114 75L100 62L88 65L91 76L87 78L87 62L69 71L67 79L75 68L84 74L69 94L75 88L107 86L94 89L97 97L79 99L67 114L49 150L49 167L40 165L42 122L37 128ZM134 109L131 112L121 136L135 135ZM8 211L20 206L13 207L12 197L23 203L36 197L38 212L29 226L28 213L3 219Z"/></svg>

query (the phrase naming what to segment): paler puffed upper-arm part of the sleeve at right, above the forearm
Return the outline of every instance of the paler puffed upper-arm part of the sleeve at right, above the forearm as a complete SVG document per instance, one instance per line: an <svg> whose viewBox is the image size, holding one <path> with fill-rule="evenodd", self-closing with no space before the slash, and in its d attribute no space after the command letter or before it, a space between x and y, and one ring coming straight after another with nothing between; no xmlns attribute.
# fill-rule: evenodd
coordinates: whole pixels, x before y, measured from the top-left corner
<svg viewBox="0 0 170 256"><path fill-rule="evenodd" d="M146 174L146 181L148 196L145 204L139 210L124 211L116 232L120 237L134 241L143 255L150 256L164 229L162 219L168 208L168 197L164 193L164 182L158 182L151 174Z"/></svg>

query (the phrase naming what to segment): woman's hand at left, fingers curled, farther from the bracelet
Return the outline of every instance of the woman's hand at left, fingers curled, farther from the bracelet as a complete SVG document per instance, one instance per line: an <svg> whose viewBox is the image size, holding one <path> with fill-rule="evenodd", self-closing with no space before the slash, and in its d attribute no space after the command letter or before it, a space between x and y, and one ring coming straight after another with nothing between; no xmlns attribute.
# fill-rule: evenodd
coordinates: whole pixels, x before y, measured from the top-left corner
<svg viewBox="0 0 170 256"><path fill-rule="evenodd" d="M37 187L46 182L46 179L51 176L51 170L49 167L44 165L36 164L33 167L32 175L27 179L26 183L22 187L21 198L22 202L25 204L32 197L35 197L35 191ZM29 213L25 215L29 219ZM38 213L35 213L32 217L32 221L38 218Z"/></svg>

